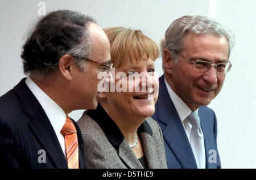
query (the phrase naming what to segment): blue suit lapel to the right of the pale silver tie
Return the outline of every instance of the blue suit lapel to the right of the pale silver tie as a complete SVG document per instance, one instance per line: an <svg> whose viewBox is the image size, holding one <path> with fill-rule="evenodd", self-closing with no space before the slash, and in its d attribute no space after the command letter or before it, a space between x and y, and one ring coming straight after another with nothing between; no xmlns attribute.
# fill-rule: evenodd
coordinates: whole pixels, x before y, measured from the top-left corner
<svg viewBox="0 0 256 180"><path fill-rule="evenodd" d="M214 137L213 137L213 133L210 133L210 125L208 124L208 122L210 122L209 116L204 114L203 111L200 110L199 108L199 117L200 117L200 123L201 123L201 129L204 133L204 146L205 146L205 160L206 160L206 168L207 169L212 169L212 168L216 168L216 163L209 163L209 156L211 154L209 154L209 151L211 149L216 150L215 148L215 143L214 143Z"/></svg>

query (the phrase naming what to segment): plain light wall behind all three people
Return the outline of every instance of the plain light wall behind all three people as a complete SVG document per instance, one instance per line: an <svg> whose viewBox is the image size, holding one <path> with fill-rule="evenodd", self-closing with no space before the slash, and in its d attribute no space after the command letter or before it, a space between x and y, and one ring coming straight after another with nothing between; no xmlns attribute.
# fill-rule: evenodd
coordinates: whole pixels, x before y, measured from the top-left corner
<svg viewBox="0 0 256 180"><path fill-rule="evenodd" d="M25 75L20 53L30 27L40 17L35 0L0 0L0 96ZM159 44L171 22L183 15L204 15L228 26L236 36L233 68L209 107L218 119L222 168L256 168L256 1L254 0L55 0L46 11L69 9L93 16L102 27L139 29ZM155 61L159 76L162 60ZM1 107L0 107L1 108ZM78 120L84 110L71 112Z"/></svg>

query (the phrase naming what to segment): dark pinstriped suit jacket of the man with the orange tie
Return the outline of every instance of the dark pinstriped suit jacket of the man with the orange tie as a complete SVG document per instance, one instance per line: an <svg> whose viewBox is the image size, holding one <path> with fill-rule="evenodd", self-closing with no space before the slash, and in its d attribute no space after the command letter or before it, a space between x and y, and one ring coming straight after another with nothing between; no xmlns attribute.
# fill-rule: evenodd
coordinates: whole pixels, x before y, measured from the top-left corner
<svg viewBox="0 0 256 180"><path fill-rule="evenodd" d="M25 80L0 97L0 168L68 168L56 133ZM86 168L81 132L73 123L79 138L79 166ZM38 161L43 160L40 149L46 152L46 163Z"/></svg>

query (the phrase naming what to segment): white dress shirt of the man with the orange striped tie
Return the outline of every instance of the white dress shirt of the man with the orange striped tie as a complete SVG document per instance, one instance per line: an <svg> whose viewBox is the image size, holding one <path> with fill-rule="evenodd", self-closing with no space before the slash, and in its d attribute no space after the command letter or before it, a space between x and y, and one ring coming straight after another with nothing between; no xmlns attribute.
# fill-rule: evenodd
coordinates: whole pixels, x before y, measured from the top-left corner
<svg viewBox="0 0 256 180"><path fill-rule="evenodd" d="M28 88L35 95L36 99L38 99L44 112L46 112L49 122L56 133L61 149L65 155L65 139L60 132L66 122L65 112L51 98L49 98L48 95L44 93L44 91L40 89L40 87L38 87L38 85L36 85L36 83L32 81L30 77L28 77L25 82Z"/></svg>

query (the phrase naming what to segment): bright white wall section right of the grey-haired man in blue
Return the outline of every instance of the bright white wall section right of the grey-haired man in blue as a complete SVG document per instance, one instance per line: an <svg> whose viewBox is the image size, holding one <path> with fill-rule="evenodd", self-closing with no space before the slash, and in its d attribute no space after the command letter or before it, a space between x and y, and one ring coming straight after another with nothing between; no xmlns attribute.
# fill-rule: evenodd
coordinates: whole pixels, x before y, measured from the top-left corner
<svg viewBox="0 0 256 180"><path fill-rule="evenodd" d="M236 35L233 68L221 93L210 103L218 119L218 150L223 168L256 168L256 1L210 1L210 16Z"/></svg>

